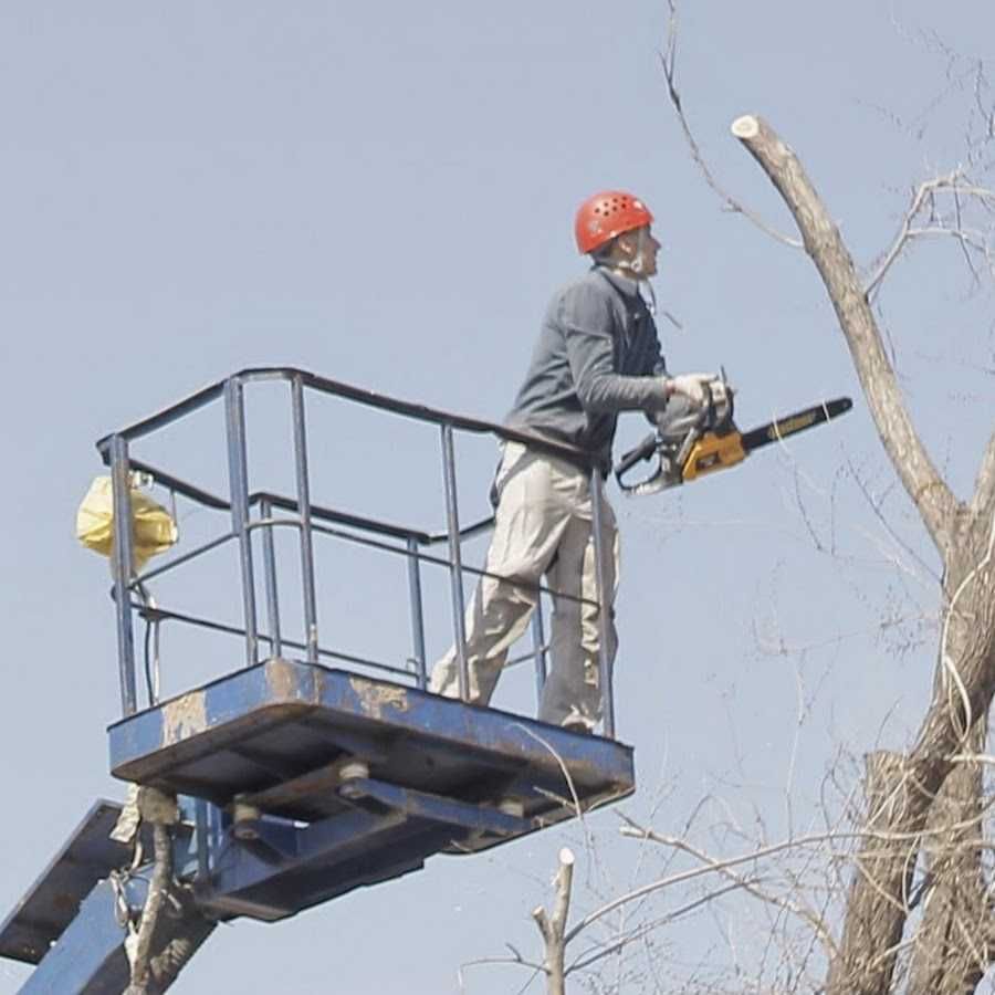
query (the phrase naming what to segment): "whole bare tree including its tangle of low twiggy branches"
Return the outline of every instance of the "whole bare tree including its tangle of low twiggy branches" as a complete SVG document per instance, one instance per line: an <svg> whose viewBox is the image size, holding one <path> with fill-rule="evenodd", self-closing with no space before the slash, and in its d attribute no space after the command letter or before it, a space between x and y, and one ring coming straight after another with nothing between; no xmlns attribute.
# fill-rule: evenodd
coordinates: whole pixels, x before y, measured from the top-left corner
<svg viewBox="0 0 995 995"><path fill-rule="evenodd" d="M995 191L989 182L995 100L981 64L944 53L947 78L966 88L973 105L961 161L910 190L893 238L861 272L798 156L756 115L737 118L732 133L774 184L797 234L777 231L726 192L694 138L678 90L677 8L674 0L668 2L670 31L661 60L692 159L725 210L779 244L807 253L893 473L935 547L941 576L932 611L938 622L932 695L907 748L871 750L859 774L847 774L839 758L828 763L827 786L844 800L836 814L834 806L824 805L820 831L790 832L772 842L765 832L751 837L723 816L723 838L710 848L692 840L691 827L706 809L708 818L715 818L721 807L716 799L702 799L675 832L624 817L624 836L667 855L661 872L601 901L573 925L543 930L545 956L530 966L551 978L551 992L561 992L552 987L551 965L561 965L564 980L583 977L585 971L638 949L647 964L659 964L668 954L659 943L651 945L654 938L683 917L704 910L714 914L735 900L733 921L761 910L748 955L741 957L740 943L730 934L731 973L720 976L706 965L684 964L681 974L670 972L666 982L650 973L647 991L973 992L995 961L995 900L986 862L995 847L985 832L992 799L984 779L985 769L995 765L995 757L985 753L995 694L995 426L977 460L973 492L956 495L939 469L942 459L938 462L928 451L913 422L896 373L894 348L882 334L874 305L910 249L924 240L945 240L973 285L995 280ZM991 329L988 335L991 342ZM890 531L882 504L858 482ZM807 519L805 524L821 548L814 524ZM856 821L855 828L848 819ZM748 844L730 856L733 839ZM678 859L690 866L675 869L672 861ZM563 878L558 881L562 900ZM695 893L689 894L689 888ZM680 897L666 911L651 904L677 892ZM753 903L754 912L746 911L746 903ZM622 909L629 917L612 919ZM608 922L612 929L596 932ZM582 936L588 945L569 955ZM517 954L511 961L526 963ZM617 978L589 987L624 991Z"/></svg>

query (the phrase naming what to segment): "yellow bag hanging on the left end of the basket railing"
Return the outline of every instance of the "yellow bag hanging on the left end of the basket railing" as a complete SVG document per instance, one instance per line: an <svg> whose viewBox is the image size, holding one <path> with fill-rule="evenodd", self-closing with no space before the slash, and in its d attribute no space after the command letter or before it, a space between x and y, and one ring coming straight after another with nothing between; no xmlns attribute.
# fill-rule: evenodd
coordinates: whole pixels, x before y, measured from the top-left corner
<svg viewBox="0 0 995 995"><path fill-rule="evenodd" d="M168 549L179 532L172 516L139 490L140 475L132 474L132 548L135 569L151 556ZM96 553L109 556L114 549L114 495L109 476L96 476L76 512L76 538Z"/></svg>

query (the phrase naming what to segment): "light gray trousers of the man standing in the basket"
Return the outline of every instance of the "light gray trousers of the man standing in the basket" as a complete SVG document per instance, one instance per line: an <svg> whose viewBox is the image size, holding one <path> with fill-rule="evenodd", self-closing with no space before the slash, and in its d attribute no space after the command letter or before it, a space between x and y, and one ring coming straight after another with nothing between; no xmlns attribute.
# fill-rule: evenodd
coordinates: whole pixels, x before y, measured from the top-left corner
<svg viewBox="0 0 995 995"><path fill-rule="evenodd" d="M540 719L593 730L601 718L598 669L598 607L590 480L566 460L506 442L498 471L494 534L484 569L467 608L470 701L486 704L512 643L525 631L545 575L553 596L552 666ZM601 502L608 656L615 659L615 593L618 527ZM501 578L501 579L498 579ZM586 600L582 601L580 598ZM459 669L452 648L432 668L429 690L459 698Z"/></svg>

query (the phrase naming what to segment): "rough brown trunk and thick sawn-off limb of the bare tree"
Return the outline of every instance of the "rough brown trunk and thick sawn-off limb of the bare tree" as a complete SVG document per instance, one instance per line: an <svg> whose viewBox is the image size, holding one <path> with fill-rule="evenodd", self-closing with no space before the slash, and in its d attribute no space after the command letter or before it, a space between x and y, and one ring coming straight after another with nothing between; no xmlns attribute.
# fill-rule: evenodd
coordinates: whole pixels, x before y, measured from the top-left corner
<svg viewBox="0 0 995 995"><path fill-rule="evenodd" d="M966 819L975 837L978 831L973 817L980 803L978 778L972 765L959 766L956 758L977 752L984 742L995 693L995 433L981 461L972 499L959 501L930 459L899 390L868 300L880 276L870 287L863 285L797 156L769 125L746 116L735 121L732 129L771 178L798 224L805 250L836 311L878 434L943 564L943 622L932 702L910 751L877 753L868 760L867 827L902 842L884 848L869 844L857 853L842 940L829 973L830 993L870 995L890 989L910 912L920 837L934 805L941 824L960 826ZM883 274L910 237L914 216L928 196L921 193L923 189L913 199L900 238L879 273ZM960 174L933 181L930 189L995 207L995 195ZM955 237L960 240L963 232ZM968 254L971 248L965 249ZM984 241L977 251L987 260ZM935 974L935 965L943 965L940 991L963 992L965 986L971 991L989 961L988 917L978 915L986 899L976 857L971 856L972 851L980 853L981 841L965 846L962 830L952 829L947 836L945 848L955 851L956 858L947 852L933 860L934 880L926 888L942 893L928 904L913 991L931 987L929 978ZM967 905L961 909L964 902ZM945 924L935 921L936 917L946 920ZM959 930L966 936L953 940ZM972 954L960 959L959 972L949 954L951 943L957 949L974 947Z"/></svg>

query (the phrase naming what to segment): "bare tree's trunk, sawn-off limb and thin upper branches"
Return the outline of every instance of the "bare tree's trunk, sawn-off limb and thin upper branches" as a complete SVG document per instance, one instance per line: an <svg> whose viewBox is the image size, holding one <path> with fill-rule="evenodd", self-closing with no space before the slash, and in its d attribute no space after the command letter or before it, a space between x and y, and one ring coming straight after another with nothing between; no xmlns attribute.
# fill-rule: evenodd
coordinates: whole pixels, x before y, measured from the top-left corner
<svg viewBox="0 0 995 995"><path fill-rule="evenodd" d="M719 186L701 156L675 84L677 7L662 56L671 104L694 161L725 207L789 245ZM823 280L891 464L942 564L940 643L932 701L904 753L867 757L865 842L855 855L842 938L830 956L829 993L891 989L899 951L911 945L909 991L973 991L995 959L992 899L982 867L982 753L995 692L995 433L981 459L974 493L959 500L912 422L871 303L892 266L917 240L953 240L974 283L995 275L995 193L976 179L991 170L995 103L984 66L940 46L946 76L970 86L973 102L963 161L920 184L890 247L861 280L837 226L798 157L763 119L747 115L733 134L772 180L792 212ZM986 161L987 157L987 161ZM920 865L924 873L913 889ZM922 921L903 934L914 904Z"/></svg>

